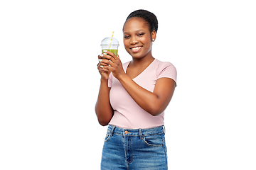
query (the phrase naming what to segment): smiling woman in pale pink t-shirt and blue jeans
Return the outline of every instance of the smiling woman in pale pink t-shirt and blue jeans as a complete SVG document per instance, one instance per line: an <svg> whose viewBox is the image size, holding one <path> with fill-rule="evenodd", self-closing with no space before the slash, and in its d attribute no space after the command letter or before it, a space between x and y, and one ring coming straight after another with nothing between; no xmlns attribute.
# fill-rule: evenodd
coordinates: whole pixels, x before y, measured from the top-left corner
<svg viewBox="0 0 256 170"><path fill-rule="evenodd" d="M124 23L124 47L132 61L112 52L98 56L101 75L95 106L100 125L109 125L101 169L167 169L164 110L176 87L176 69L151 54L158 21L137 10Z"/></svg>

